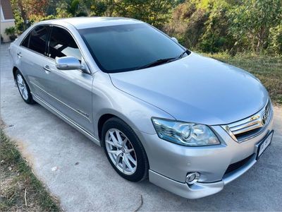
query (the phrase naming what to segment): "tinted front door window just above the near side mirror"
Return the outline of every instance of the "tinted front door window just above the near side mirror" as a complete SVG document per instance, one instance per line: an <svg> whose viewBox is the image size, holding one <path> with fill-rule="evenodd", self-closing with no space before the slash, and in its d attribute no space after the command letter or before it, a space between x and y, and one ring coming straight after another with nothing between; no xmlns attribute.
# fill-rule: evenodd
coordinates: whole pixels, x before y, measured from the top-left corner
<svg viewBox="0 0 282 212"><path fill-rule="evenodd" d="M53 27L49 43L49 57L56 59L56 57L66 56L75 57L80 61L82 57L70 33L63 28Z"/></svg>

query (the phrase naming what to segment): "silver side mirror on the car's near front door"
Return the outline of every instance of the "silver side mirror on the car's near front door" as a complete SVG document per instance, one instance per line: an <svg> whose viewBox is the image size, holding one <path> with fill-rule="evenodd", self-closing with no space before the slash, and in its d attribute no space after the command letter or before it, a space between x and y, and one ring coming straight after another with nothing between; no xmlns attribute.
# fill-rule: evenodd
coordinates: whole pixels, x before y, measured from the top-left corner
<svg viewBox="0 0 282 212"><path fill-rule="evenodd" d="M83 70L80 61L75 57L60 57L56 59L56 68L59 70Z"/></svg>

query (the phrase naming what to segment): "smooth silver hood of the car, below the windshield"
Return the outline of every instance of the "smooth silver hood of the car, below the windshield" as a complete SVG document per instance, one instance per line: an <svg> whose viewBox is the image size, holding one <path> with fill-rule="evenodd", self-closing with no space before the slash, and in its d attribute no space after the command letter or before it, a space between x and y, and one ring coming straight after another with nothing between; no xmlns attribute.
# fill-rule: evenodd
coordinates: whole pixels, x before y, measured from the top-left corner
<svg viewBox="0 0 282 212"><path fill-rule="evenodd" d="M268 100L255 76L193 52L168 64L110 77L116 88L184 122L228 124L255 114Z"/></svg>

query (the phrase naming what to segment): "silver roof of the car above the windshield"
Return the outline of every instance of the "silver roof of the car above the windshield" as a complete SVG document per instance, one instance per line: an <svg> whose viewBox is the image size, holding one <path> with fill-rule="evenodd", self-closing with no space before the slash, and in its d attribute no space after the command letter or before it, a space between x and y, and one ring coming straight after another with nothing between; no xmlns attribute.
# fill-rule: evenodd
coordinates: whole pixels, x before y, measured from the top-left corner
<svg viewBox="0 0 282 212"><path fill-rule="evenodd" d="M61 18L53 20L44 20L40 23L58 24L69 23L78 30L85 28L97 28L110 25L124 25L133 23L143 23L140 20L133 18L121 18L121 17L77 17L77 18Z"/></svg>

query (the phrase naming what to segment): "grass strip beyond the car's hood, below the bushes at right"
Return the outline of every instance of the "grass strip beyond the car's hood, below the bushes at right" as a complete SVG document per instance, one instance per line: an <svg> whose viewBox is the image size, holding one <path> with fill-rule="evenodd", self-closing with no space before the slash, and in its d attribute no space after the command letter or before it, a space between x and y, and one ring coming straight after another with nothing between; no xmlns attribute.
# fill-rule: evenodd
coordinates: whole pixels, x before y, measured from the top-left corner
<svg viewBox="0 0 282 212"><path fill-rule="evenodd" d="M256 54L204 54L254 74L269 91L272 102L282 105L282 57Z"/></svg>

